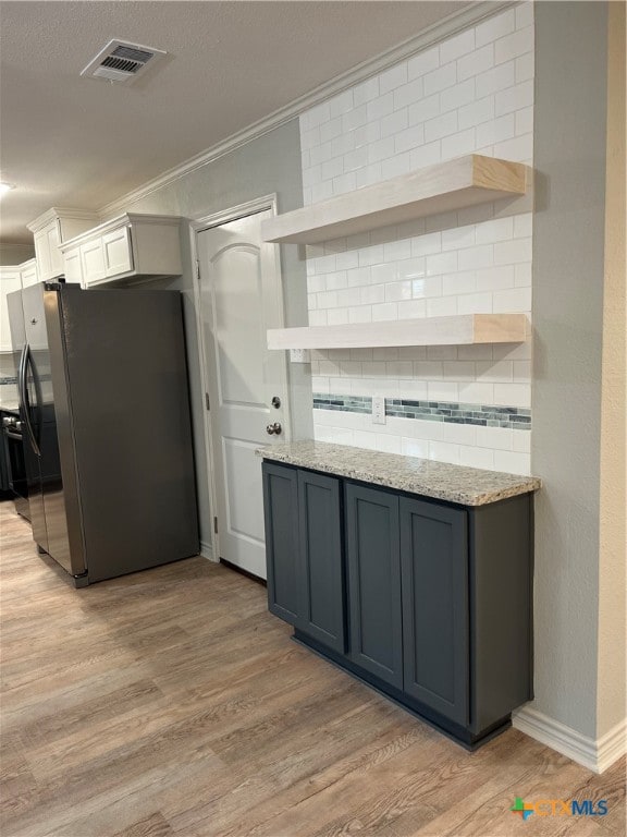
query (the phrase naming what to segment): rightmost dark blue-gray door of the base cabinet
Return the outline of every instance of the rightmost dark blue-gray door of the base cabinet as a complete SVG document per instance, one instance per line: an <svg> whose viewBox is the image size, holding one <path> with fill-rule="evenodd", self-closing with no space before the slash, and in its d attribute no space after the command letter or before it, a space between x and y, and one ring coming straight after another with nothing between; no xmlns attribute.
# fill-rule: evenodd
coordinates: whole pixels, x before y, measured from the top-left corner
<svg viewBox="0 0 627 837"><path fill-rule="evenodd" d="M401 498L404 691L466 725L468 548L466 512Z"/></svg>

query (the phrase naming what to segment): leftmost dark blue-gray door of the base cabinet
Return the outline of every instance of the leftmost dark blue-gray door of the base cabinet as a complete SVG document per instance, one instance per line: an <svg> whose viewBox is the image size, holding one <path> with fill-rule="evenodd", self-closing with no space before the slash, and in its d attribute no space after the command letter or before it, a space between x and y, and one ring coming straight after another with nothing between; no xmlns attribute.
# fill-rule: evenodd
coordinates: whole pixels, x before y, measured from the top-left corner
<svg viewBox="0 0 627 837"><path fill-rule="evenodd" d="M263 463L268 609L294 626L299 618L297 473Z"/></svg>

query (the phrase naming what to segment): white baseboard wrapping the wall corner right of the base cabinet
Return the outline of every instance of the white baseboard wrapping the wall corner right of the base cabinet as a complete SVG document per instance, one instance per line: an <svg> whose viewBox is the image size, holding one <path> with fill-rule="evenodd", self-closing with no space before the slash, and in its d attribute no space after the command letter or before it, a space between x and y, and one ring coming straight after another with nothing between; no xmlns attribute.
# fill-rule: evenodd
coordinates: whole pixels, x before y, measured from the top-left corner
<svg viewBox="0 0 627 837"><path fill-rule="evenodd" d="M599 739L582 736L571 727L544 715L538 709L524 707L512 716L512 724L520 732L540 741L594 773L603 773L626 752L627 718Z"/></svg>

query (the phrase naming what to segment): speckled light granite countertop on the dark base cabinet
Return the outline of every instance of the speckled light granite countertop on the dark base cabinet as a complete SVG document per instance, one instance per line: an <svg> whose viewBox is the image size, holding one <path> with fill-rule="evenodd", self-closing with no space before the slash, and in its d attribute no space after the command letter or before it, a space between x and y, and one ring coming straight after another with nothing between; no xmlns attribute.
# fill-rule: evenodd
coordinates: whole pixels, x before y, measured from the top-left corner
<svg viewBox="0 0 627 837"><path fill-rule="evenodd" d="M259 448L256 453L275 462L384 485L463 506L485 506L507 497L536 492L542 485L540 480L533 476L483 471L325 441L269 445Z"/></svg>

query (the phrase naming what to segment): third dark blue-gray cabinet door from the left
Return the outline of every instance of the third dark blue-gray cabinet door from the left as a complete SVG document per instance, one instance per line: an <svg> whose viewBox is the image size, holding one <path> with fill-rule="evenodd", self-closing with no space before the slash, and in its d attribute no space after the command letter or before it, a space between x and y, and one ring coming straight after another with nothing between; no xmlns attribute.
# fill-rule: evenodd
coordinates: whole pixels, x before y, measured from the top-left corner
<svg viewBox="0 0 627 837"><path fill-rule="evenodd" d="M346 548L351 659L401 689L398 497L347 483Z"/></svg>

